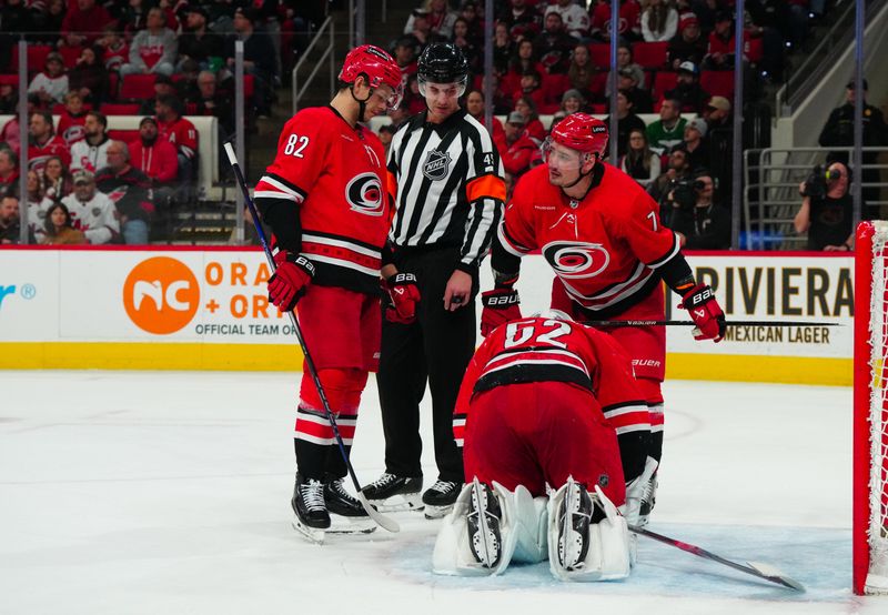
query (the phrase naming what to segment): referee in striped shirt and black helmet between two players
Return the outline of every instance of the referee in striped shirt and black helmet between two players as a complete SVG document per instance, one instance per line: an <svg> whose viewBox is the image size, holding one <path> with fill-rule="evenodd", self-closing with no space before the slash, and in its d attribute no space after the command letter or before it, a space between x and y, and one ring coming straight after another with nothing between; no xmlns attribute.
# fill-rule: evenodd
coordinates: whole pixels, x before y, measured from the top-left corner
<svg viewBox="0 0 888 615"><path fill-rule="evenodd" d="M404 122L389 150L395 213L383 253L389 302L377 383L385 473L364 487L382 511L450 512L463 484L453 409L475 351L478 265L505 200L503 164L487 130L460 108L468 62L453 43L430 44L418 60L427 110ZM437 481L422 494L420 401L426 381Z"/></svg>

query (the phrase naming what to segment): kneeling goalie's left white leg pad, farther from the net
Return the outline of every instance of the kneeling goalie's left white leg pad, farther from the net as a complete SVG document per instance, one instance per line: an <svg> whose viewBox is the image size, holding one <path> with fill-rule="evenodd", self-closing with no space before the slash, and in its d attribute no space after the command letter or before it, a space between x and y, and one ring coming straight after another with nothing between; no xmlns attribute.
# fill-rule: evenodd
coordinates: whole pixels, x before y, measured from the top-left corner
<svg viewBox="0 0 888 615"><path fill-rule="evenodd" d="M477 478L466 483L441 524L432 556L433 572L452 576L502 574L515 553L518 500L533 506L527 490L516 494L496 482L493 487Z"/></svg>

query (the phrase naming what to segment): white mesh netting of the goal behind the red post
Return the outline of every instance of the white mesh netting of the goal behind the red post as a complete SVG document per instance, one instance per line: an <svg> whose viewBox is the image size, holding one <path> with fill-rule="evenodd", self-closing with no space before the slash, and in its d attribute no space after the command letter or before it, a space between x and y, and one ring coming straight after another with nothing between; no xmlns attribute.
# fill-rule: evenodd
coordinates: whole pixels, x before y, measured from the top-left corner
<svg viewBox="0 0 888 615"><path fill-rule="evenodd" d="M874 222L870 295L870 466L867 593L888 593L888 222Z"/></svg>

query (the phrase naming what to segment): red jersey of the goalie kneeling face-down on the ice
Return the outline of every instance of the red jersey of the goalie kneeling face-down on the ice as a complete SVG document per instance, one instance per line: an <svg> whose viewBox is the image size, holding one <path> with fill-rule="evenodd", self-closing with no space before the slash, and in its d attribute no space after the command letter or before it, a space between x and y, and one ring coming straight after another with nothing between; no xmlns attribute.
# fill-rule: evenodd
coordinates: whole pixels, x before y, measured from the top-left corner
<svg viewBox="0 0 888 615"><path fill-rule="evenodd" d="M608 334L574 322L529 317L495 329L475 352L454 410L454 437L463 445L475 393L519 382L569 382L592 391L617 436L648 432L647 403L632 362Z"/></svg>

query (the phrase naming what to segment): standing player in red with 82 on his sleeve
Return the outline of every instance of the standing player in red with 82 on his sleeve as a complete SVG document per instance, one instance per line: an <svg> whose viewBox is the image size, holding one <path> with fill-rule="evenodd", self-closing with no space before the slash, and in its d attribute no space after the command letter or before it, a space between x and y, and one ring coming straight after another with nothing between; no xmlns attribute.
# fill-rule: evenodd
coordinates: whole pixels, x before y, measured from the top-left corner
<svg viewBox="0 0 888 615"><path fill-rule="evenodd" d="M282 311L299 301L306 346L350 450L367 372L379 362L380 263L390 222L385 153L360 122L397 105L401 70L382 49L362 46L345 57L339 85L329 107L300 111L284 125L255 201L274 234L269 299ZM343 486L345 462L307 374L294 446L296 528L319 540L335 513L369 530L366 513Z"/></svg>

